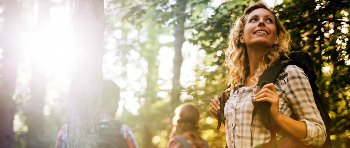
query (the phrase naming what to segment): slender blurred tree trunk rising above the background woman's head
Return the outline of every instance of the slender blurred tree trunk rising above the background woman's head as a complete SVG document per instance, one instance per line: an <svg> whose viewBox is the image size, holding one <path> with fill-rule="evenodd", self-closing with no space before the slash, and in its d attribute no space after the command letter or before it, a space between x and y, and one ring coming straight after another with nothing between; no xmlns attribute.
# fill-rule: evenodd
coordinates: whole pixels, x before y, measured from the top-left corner
<svg viewBox="0 0 350 148"><path fill-rule="evenodd" d="M173 88L172 88L172 105L177 106L180 103L180 74L181 74L181 64L182 64L182 44L184 42L184 22L186 20L185 17L185 9L187 0L177 0L177 19L176 19L176 27L175 27L175 57L174 57L174 68L173 68Z"/></svg>

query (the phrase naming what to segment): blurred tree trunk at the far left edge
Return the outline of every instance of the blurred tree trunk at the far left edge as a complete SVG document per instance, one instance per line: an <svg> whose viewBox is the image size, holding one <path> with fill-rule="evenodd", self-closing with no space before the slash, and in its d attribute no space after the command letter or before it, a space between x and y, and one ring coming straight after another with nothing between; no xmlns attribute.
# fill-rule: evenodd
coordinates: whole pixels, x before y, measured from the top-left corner
<svg viewBox="0 0 350 148"><path fill-rule="evenodd" d="M14 146L13 118L16 104L13 99L17 65L19 38L19 3L16 0L3 1L4 26L0 42L3 49L1 60L0 86L0 147Z"/></svg>

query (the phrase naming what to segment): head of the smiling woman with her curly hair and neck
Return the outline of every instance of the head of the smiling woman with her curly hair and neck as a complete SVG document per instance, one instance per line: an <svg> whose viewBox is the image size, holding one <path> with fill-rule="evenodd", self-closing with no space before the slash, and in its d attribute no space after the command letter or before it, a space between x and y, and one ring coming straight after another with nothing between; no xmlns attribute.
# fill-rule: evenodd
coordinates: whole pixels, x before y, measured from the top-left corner
<svg viewBox="0 0 350 148"><path fill-rule="evenodd" d="M229 89L244 83L241 81L241 76L249 71L258 72L257 74L251 73L249 77L250 79L258 80L258 76L265 71L268 65L277 61L280 55L287 56L290 52L289 46L291 41L289 33L277 19L275 13L269 9L267 10L265 4L261 5L265 7L251 6L251 9L246 9L245 15L235 22L235 27L230 31L230 45L225 51L226 61L224 64L230 69L231 87ZM266 34L256 34L257 31L265 31ZM252 58L249 59L252 61L249 61L247 54L253 54L250 57L259 58ZM265 55L261 56L262 54ZM264 60L264 62L260 62L260 60ZM255 64L258 65L256 67L248 67L248 65L252 66ZM257 71L258 67L261 67L260 71ZM243 70L237 71L235 69ZM257 81L254 84L256 85Z"/></svg>

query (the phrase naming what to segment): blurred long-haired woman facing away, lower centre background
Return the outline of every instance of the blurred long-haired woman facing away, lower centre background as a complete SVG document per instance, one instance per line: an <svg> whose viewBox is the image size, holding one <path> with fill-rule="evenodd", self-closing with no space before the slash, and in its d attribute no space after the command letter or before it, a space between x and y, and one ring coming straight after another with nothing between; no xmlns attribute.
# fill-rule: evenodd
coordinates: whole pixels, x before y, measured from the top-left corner
<svg viewBox="0 0 350 148"><path fill-rule="evenodd" d="M194 103L178 106L167 148L208 148L208 142L201 138L199 119L200 111Z"/></svg>

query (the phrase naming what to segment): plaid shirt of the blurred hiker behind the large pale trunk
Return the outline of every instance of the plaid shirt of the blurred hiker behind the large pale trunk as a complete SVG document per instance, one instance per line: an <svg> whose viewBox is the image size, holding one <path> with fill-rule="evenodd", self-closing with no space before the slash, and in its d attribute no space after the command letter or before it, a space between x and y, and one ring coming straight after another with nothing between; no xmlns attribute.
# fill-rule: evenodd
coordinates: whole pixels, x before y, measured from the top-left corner
<svg viewBox="0 0 350 148"><path fill-rule="evenodd" d="M112 117L108 116L105 113L100 113L100 121L110 121L112 120ZM129 148L139 148L137 145L135 136L133 132L131 131L130 127L122 124L120 127L120 132L123 134L124 138L126 139L127 145ZM55 148L67 148L67 124L63 125L61 128L61 131L59 131Z"/></svg>

